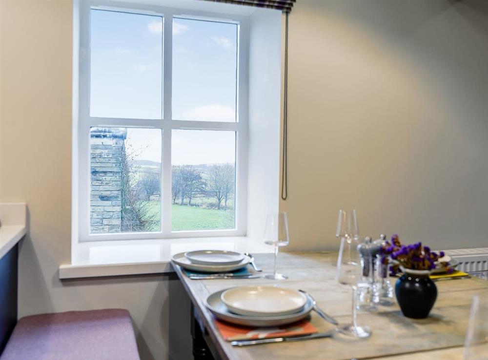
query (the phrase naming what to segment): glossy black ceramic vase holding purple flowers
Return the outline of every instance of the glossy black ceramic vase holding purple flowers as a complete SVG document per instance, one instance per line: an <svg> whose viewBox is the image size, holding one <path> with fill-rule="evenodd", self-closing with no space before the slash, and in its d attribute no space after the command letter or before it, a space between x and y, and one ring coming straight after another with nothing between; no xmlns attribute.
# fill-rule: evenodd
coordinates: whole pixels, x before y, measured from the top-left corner
<svg viewBox="0 0 488 360"><path fill-rule="evenodd" d="M427 318L437 299L437 286L429 278L429 271L409 271L395 284L395 295L407 318Z"/></svg>

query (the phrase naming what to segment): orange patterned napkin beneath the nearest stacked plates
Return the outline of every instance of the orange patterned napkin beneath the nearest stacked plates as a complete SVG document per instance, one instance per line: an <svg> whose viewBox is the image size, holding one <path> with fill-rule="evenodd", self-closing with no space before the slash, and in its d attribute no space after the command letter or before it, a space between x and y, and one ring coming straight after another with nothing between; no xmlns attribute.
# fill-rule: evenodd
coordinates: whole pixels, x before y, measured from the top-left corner
<svg viewBox="0 0 488 360"><path fill-rule="evenodd" d="M317 332L308 320L275 327L247 327L214 320L215 326L226 341L281 338Z"/></svg>

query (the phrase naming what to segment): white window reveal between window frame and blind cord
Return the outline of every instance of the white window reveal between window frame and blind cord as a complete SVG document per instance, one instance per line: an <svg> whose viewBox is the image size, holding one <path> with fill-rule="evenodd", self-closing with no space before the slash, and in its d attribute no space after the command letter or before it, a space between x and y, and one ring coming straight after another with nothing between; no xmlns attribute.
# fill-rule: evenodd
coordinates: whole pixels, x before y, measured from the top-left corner
<svg viewBox="0 0 488 360"><path fill-rule="evenodd" d="M279 208L281 18L266 9L249 18L247 236L258 241Z"/></svg>

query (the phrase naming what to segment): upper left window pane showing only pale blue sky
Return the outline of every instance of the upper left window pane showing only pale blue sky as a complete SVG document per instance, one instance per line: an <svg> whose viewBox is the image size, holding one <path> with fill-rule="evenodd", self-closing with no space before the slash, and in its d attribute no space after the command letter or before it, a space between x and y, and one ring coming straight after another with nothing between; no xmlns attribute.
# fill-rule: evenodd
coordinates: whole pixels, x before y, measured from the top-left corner
<svg viewBox="0 0 488 360"><path fill-rule="evenodd" d="M90 116L161 119L163 18L90 14Z"/></svg>

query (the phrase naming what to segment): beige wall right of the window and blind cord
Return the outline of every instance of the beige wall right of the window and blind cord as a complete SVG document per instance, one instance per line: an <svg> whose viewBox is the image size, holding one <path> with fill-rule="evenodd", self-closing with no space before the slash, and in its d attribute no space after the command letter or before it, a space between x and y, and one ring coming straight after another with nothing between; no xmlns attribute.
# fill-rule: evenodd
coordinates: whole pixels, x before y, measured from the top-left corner
<svg viewBox="0 0 488 360"><path fill-rule="evenodd" d="M289 249L360 232L488 246L488 1L298 0L289 18Z"/></svg>

